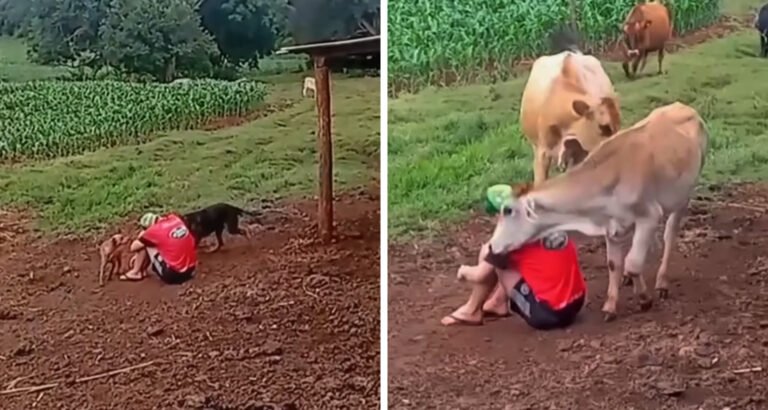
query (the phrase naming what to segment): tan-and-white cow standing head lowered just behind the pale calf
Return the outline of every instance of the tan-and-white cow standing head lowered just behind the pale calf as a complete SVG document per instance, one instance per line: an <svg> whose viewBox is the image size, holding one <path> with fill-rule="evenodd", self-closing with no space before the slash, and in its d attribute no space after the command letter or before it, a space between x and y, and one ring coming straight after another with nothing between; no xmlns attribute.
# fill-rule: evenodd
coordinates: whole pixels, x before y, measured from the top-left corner
<svg viewBox="0 0 768 410"><path fill-rule="evenodd" d="M619 130L621 116L613 84L600 61L575 46L539 57L523 90L520 125L533 145L533 183L547 179L552 159L561 168Z"/></svg>

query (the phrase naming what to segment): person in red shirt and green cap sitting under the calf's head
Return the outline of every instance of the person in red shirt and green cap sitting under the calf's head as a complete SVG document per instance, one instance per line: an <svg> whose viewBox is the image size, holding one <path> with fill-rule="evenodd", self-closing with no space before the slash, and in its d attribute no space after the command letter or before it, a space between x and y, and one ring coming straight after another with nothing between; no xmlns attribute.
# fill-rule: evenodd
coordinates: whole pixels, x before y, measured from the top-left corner
<svg viewBox="0 0 768 410"><path fill-rule="evenodd" d="M496 185L488 189L486 208L499 213L514 200L510 186ZM586 296L576 246L564 232L529 242L503 256L494 257L486 243L477 265L462 265L457 277L473 284L472 294L442 319L445 326L476 326L483 324L484 315L515 312L535 329L562 328L575 321Z"/></svg>

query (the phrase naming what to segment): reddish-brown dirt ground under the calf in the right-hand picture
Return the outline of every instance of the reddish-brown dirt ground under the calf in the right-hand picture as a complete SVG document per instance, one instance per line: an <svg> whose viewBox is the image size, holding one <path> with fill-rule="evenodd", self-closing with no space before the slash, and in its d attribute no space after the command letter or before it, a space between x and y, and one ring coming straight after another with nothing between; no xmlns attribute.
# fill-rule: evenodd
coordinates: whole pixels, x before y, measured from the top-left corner
<svg viewBox="0 0 768 410"><path fill-rule="evenodd" d="M578 238L589 294L567 330L536 331L517 317L440 325L469 295L456 268L476 260L492 230L485 218L439 241L390 245L390 408L768 408L768 186L717 197L692 206L670 297L646 313L624 287L618 319L602 322L605 247Z"/></svg>

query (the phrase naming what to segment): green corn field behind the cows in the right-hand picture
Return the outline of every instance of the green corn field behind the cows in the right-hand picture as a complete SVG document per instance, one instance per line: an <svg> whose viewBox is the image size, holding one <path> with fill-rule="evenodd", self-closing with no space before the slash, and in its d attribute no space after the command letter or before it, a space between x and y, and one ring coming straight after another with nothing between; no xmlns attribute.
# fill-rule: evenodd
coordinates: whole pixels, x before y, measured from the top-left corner
<svg viewBox="0 0 768 410"><path fill-rule="evenodd" d="M390 0L389 82L406 89L462 82L478 72L504 76L523 58L549 52L549 34L575 16L582 41L621 35L636 0ZM680 34L720 16L720 0L664 0ZM571 4L575 5L572 10Z"/></svg>

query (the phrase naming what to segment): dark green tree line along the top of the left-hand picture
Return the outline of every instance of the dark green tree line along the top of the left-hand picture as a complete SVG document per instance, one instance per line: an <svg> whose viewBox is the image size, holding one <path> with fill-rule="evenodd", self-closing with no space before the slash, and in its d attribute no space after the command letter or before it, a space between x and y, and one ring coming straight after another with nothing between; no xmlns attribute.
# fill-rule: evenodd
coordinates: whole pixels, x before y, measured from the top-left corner
<svg viewBox="0 0 768 410"><path fill-rule="evenodd" d="M30 58L159 81L258 67L277 47L378 34L379 0L0 0Z"/></svg>

